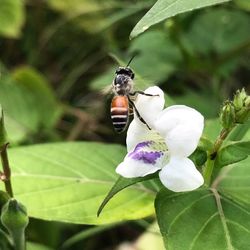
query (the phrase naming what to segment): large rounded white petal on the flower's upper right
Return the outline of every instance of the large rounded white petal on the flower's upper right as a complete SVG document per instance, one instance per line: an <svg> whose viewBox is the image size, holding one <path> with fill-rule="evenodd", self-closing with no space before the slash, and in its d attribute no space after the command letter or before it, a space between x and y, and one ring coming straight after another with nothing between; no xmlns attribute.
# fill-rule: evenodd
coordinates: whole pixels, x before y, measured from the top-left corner
<svg viewBox="0 0 250 250"><path fill-rule="evenodd" d="M187 157L199 143L204 117L193 108L174 105L160 113L154 126L165 138L171 156Z"/></svg>

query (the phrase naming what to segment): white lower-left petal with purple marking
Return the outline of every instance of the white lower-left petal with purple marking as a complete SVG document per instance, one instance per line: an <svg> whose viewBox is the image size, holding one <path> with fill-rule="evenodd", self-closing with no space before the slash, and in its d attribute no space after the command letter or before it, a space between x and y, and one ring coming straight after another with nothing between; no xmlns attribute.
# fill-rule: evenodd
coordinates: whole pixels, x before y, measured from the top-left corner
<svg viewBox="0 0 250 250"><path fill-rule="evenodd" d="M161 169L164 153L152 150L154 142L139 143L135 149L128 153L122 163L116 168L116 172L123 177L143 177Z"/></svg>

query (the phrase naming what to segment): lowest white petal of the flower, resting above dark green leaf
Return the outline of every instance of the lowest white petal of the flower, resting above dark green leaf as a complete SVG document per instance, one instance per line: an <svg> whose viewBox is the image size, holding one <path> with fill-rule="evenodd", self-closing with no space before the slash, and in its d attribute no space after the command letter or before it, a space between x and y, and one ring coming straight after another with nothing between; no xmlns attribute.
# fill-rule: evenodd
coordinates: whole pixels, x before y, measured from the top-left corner
<svg viewBox="0 0 250 250"><path fill-rule="evenodd" d="M201 173L188 158L171 158L159 176L162 184L174 192L191 191L204 183Z"/></svg>

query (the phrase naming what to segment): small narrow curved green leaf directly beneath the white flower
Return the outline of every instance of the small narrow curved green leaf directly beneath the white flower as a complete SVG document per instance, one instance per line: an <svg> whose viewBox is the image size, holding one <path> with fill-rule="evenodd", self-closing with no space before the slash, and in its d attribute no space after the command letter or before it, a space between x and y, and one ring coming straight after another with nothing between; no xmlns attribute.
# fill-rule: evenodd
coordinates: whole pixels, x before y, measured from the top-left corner
<svg viewBox="0 0 250 250"><path fill-rule="evenodd" d="M146 177L138 177L138 178L124 178L124 177L119 177L118 180L116 181L116 183L114 184L114 186L111 188L111 190L108 192L107 196L105 197L105 199L103 200L103 202L101 203L98 211L97 211L97 216L99 216L103 210L103 208L106 206L106 204L120 191L122 191L123 189L132 186L138 182L142 182L145 180L149 180L152 178L156 178L158 177L158 173L157 174L151 174L151 175L147 175Z"/></svg>

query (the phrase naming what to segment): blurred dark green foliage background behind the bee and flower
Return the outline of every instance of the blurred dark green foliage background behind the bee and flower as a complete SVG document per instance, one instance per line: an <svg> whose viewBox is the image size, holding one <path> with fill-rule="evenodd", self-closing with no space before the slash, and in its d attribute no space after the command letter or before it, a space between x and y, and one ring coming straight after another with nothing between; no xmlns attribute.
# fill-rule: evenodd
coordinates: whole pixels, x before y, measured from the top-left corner
<svg viewBox="0 0 250 250"><path fill-rule="evenodd" d="M109 117L112 96L103 89L134 53L136 89L159 85L166 105L186 104L213 119L235 90L250 91L249 0L178 15L132 40L131 30L155 1L0 2L0 103L12 147L74 140L124 144L125 134L114 133ZM27 235L60 249L85 232L65 249L114 249L153 220L97 228L32 220Z"/></svg>

